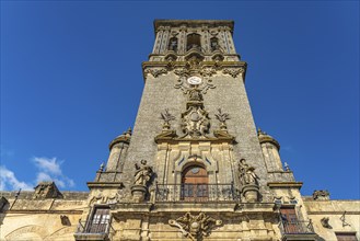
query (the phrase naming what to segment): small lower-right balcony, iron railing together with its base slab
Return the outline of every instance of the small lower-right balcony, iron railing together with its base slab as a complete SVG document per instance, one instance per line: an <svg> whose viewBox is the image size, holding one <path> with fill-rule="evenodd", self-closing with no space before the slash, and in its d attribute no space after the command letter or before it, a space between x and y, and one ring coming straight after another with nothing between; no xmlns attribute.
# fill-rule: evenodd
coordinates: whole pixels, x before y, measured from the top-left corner
<svg viewBox="0 0 360 241"><path fill-rule="evenodd" d="M310 221L287 221L282 220L279 225L282 240L316 240L317 234L314 232L313 223Z"/></svg>

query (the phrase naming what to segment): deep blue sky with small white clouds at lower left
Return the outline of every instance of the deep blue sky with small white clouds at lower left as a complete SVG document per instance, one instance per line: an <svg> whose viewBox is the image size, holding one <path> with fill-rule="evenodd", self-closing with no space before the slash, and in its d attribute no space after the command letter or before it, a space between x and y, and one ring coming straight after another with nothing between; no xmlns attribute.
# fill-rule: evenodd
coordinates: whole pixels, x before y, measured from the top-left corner
<svg viewBox="0 0 360 241"><path fill-rule="evenodd" d="M358 1L1 1L1 183L86 191L133 125L154 19L235 21L255 123L302 193L359 194Z"/></svg>

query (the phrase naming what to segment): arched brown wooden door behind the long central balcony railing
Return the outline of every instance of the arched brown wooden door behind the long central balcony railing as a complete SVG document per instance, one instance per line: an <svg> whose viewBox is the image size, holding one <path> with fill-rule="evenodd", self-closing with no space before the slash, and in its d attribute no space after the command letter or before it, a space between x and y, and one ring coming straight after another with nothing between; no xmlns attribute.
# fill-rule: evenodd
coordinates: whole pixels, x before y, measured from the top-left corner
<svg viewBox="0 0 360 241"><path fill-rule="evenodd" d="M182 199L189 202L205 202L209 199L209 176L205 168L190 165L183 171Z"/></svg>

